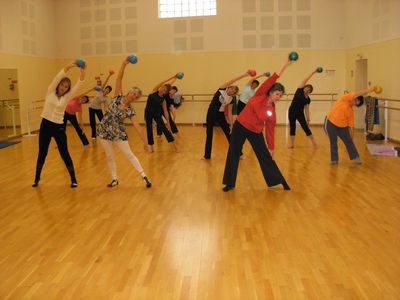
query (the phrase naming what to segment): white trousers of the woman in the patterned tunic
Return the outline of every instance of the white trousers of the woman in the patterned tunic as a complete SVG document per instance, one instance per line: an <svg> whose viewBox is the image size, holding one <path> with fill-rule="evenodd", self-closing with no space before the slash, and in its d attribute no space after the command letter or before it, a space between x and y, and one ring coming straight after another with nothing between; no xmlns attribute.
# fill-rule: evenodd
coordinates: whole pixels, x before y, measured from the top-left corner
<svg viewBox="0 0 400 300"><path fill-rule="evenodd" d="M115 166L114 151L112 146L113 144L116 144L119 147L122 153L126 156L126 158L131 162L133 167L136 169L136 171L139 172L142 177L146 176L142 165L129 147L128 141L108 141L104 139L100 139L100 141L103 145L104 152L106 153L107 164L108 168L110 169L112 179L117 179L117 167Z"/></svg>

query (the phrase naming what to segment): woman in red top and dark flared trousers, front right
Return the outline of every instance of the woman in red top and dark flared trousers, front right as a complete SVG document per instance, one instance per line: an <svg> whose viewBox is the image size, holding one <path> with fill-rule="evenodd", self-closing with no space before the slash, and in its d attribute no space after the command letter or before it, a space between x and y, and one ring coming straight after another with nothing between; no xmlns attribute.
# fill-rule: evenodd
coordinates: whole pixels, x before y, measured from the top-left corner
<svg viewBox="0 0 400 300"><path fill-rule="evenodd" d="M285 178L269 153L262 134L264 123L274 114L270 109L270 102L278 101L285 92L285 87L276 80L293 61L288 60L277 73L274 73L258 88L250 98L246 107L237 117L233 125L228 156L225 163L223 184L224 192L235 187L239 167L240 153L246 139L249 140L260 163L265 182L268 186L282 184L285 190L290 190Z"/></svg>

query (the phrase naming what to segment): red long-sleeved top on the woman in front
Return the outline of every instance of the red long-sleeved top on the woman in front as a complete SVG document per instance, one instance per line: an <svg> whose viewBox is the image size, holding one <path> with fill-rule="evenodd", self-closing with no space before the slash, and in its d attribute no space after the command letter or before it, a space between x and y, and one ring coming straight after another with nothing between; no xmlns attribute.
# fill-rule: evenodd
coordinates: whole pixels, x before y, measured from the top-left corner
<svg viewBox="0 0 400 300"><path fill-rule="evenodd" d="M271 115L271 106L267 106L267 91L278 78L278 74L274 73L271 77L265 80L237 117L237 121L248 130L255 133L261 133L265 122L274 122L274 120L276 122L275 109L273 109ZM270 113L268 113L268 111Z"/></svg>

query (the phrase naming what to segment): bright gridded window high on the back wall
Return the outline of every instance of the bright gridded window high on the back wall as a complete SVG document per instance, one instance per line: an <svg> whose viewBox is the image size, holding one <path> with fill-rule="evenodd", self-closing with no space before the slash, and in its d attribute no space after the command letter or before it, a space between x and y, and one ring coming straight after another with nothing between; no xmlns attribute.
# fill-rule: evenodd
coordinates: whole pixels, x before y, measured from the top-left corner
<svg viewBox="0 0 400 300"><path fill-rule="evenodd" d="M160 18L217 15L216 0L159 0Z"/></svg>

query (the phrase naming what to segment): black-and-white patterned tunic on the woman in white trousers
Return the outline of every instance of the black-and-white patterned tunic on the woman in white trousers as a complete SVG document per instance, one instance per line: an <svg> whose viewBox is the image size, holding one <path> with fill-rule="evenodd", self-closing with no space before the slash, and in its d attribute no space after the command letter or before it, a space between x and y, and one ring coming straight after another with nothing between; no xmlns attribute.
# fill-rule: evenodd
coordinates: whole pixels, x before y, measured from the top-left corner
<svg viewBox="0 0 400 300"><path fill-rule="evenodd" d="M135 115L135 110L130 106L121 110L119 106L123 99L124 97L120 94L115 97L108 106L108 110L97 128L97 135L100 138L108 141L128 140L124 119L132 118Z"/></svg>

